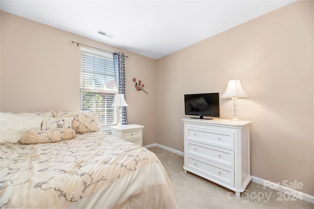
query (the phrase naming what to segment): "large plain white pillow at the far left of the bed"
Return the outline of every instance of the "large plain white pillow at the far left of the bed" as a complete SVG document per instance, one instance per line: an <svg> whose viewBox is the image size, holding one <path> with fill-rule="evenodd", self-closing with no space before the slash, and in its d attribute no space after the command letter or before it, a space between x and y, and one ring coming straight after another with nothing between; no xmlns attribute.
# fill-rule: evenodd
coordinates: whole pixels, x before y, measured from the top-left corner
<svg viewBox="0 0 314 209"><path fill-rule="evenodd" d="M42 116L19 116L0 113L0 142L16 143L27 131L40 130Z"/></svg>

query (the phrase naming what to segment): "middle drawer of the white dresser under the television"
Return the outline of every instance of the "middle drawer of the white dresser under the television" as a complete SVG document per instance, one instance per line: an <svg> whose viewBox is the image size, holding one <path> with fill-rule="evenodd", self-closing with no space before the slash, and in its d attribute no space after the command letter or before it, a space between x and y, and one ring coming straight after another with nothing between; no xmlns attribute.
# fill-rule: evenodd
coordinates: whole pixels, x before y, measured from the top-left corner
<svg viewBox="0 0 314 209"><path fill-rule="evenodd" d="M228 167L235 167L235 153L228 149L221 149L206 144L201 144L186 140L184 144L185 152L190 155L195 155L204 158L208 161L219 163Z"/></svg>

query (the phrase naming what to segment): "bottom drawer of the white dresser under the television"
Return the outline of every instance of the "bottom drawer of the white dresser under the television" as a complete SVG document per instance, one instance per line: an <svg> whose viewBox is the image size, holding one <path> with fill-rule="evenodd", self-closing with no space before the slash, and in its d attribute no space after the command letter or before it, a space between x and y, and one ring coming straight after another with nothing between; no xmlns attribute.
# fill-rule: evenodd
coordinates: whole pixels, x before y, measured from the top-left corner
<svg viewBox="0 0 314 209"><path fill-rule="evenodd" d="M190 155L184 155L184 165L219 182L235 186L235 171L232 168L219 166L216 163L205 163Z"/></svg>

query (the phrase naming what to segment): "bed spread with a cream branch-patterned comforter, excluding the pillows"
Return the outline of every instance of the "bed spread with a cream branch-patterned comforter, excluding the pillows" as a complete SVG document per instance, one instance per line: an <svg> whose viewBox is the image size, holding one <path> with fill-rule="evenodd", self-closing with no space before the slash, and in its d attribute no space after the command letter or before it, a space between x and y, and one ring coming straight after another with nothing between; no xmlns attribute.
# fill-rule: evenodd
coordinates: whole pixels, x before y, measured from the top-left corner
<svg viewBox="0 0 314 209"><path fill-rule="evenodd" d="M144 147L100 130L21 141L0 145L0 208L177 208L164 167Z"/></svg>

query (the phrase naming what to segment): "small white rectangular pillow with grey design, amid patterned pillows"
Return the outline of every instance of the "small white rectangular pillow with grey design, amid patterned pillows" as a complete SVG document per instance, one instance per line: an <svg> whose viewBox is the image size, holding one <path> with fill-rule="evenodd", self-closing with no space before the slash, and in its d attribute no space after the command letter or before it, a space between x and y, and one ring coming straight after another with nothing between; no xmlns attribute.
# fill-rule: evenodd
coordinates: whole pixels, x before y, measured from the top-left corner
<svg viewBox="0 0 314 209"><path fill-rule="evenodd" d="M72 128L74 117L43 117L41 130L56 128Z"/></svg>

